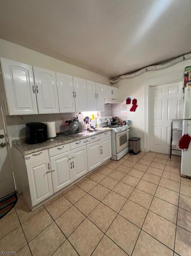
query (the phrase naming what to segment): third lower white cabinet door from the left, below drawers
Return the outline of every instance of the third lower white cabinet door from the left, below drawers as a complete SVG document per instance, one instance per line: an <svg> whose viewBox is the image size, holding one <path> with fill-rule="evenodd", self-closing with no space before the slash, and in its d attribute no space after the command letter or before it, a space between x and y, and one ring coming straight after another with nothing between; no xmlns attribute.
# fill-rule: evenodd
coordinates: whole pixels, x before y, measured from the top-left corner
<svg viewBox="0 0 191 256"><path fill-rule="evenodd" d="M87 151L86 146L79 147L71 151L74 180L83 176L88 172L87 170ZM74 158L73 158L74 157Z"/></svg>

